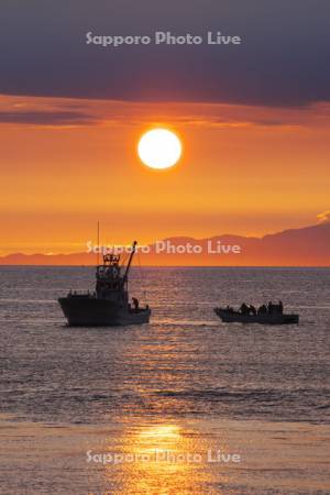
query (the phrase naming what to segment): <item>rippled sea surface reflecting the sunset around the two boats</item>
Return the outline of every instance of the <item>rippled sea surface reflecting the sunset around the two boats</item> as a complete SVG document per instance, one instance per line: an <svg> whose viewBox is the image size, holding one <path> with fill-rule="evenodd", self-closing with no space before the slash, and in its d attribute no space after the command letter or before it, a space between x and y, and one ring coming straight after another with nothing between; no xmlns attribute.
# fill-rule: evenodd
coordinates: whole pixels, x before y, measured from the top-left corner
<svg viewBox="0 0 330 495"><path fill-rule="evenodd" d="M92 267L0 268L0 494L329 494L330 270L133 267L151 322L68 328ZM298 326L222 323L284 302Z"/></svg>

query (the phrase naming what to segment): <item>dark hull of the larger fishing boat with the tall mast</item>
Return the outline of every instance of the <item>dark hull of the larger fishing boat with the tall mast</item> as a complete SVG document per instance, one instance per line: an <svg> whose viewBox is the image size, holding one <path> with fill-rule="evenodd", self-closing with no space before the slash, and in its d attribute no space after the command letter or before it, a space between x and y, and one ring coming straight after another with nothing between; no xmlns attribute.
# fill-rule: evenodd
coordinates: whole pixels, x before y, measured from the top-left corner
<svg viewBox="0 0 330 495"><path fill-rule="evenodd" d="M151 316L148 308L135 310L92 297L62 297L58 302L69 327L141 324L147 323Z"/></svg>

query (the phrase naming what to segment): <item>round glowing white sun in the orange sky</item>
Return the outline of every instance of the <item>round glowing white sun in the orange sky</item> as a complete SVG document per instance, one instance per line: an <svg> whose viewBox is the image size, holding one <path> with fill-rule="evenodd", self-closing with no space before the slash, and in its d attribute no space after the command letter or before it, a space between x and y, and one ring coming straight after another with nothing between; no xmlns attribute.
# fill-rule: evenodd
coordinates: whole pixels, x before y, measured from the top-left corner
<svg viewBox="0 0 330 495"><path fill-rule="evenodd" d="M138 153L141 161L151 168L169 168L182 156L183 146L174 132L153 129L139 141Z"/></svg>

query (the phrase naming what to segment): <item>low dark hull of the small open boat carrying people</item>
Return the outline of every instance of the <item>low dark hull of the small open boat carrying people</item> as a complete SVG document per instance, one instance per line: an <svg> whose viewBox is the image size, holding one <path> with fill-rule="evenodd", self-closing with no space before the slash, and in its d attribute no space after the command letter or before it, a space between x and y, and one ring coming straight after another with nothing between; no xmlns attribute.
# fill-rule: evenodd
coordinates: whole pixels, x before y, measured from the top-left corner
<svg viewBox="0 0 330 495"><path fill-rule="evenodd" d="M216 315L226 323L298 324L299 315L274 311L272 314L244 315L228 308L215 308Z"/></svg>

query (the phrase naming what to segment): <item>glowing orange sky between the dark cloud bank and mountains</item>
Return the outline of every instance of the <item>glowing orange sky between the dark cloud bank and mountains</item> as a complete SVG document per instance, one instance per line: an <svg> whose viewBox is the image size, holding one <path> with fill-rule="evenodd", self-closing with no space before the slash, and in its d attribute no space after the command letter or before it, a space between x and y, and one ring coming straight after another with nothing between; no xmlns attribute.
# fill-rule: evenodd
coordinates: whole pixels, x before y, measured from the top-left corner
<svg viewBox="0 0 330 495"><path fill-rule="evenodd" d="M0 254L170 235L263 234L329 210L330 105L292 109L0 97ZM152 170L141 133L184 157Z"/></svg>

